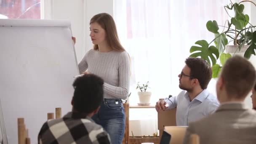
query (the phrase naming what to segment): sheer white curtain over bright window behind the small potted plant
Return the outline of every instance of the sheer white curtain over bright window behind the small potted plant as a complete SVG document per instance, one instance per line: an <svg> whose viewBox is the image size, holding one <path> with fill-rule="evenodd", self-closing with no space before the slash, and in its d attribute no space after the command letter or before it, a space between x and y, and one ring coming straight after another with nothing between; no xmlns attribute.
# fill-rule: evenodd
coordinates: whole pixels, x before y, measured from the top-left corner
<svg viewBox="0 0 256 144"><path fill-rule="evenodd" d="M115 0L117 32L131 56L130 105L138 103L136 82L149 81L152 105L159 98L176 96L181 91L178 75L190 55L190 47L197 40L209 42L214 38L206 29L206 22L216 20L224 25L229 19L224 5L229 3L229 0ZM211 80L208 89L216 93L215 80ZM155 109L151 114L157 118ZM131 118L138 119L130 112Z"/></svg>

